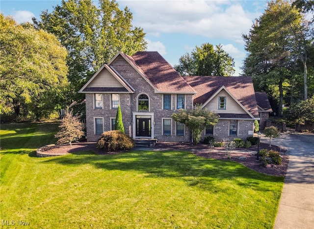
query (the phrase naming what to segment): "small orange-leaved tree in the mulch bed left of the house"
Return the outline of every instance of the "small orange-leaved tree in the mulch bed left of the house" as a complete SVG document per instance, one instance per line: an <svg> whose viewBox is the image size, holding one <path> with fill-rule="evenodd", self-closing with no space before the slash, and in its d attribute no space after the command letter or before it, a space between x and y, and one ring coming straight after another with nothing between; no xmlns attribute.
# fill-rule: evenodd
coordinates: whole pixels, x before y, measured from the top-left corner
<svg viewBox="0 0 314 229"><path fill-rule="evenodd" d="M84 135L83 127L78 117L68 113L62 118L59 132L54 135L58 139L57 144L70 143L79 140Z"/></svg>

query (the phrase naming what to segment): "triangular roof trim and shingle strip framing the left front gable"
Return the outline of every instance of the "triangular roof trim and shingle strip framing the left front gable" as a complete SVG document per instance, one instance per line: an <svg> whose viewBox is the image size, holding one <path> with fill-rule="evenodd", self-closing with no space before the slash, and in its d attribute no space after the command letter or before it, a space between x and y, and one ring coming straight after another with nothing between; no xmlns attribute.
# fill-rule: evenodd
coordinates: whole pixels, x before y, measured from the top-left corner
<svg viewBox="0 0 314 229"><path fill-rule="evenodd" d="M114 77L121 87L91 87L91 82L103 71L108 70L110 75ZM94 92L120 92L120 93L133 93L134 89L114 70L112 70L107 64L104 64L94 76L78 91L80 93L94 93Z"/></svg>

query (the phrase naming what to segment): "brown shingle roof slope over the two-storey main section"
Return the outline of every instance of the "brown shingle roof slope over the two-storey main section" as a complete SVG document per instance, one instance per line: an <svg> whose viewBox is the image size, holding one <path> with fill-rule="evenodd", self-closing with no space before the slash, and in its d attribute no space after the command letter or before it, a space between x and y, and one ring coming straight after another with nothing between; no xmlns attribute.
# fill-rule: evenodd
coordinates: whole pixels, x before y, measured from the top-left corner
<svg viewBox="0 0 314 229"><path fill-rule="evenodd" d="M127 55L126 55L127 56ZM129 60L135 63L160 92L191 93L195 91L158 52L137 52Z"/></svg>

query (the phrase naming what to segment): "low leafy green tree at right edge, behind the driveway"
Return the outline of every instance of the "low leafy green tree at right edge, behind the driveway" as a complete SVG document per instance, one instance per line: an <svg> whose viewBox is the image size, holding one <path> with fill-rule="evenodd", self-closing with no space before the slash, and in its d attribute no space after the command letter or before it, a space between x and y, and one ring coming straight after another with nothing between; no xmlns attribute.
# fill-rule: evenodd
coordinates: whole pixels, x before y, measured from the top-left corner
<svg viewBox="0 0 314 229"><path fill-rule="evenodd" d="M314 122L314 95L300 103L291 104L288 109L288 119L297 123Z"/></svg>

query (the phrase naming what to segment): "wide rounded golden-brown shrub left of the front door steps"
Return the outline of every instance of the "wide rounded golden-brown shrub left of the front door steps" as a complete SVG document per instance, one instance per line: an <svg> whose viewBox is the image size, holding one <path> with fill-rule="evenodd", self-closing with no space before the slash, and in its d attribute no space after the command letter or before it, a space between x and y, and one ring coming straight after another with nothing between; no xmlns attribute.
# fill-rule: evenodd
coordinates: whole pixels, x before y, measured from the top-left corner
<svg viewBox="0 0 314 229"><path fill-rule="evenodd" d="M134 147L134 141L128 135L119 130L105 132L97 141L96 147L104 151L118 149L131 149Z"/></svg>

